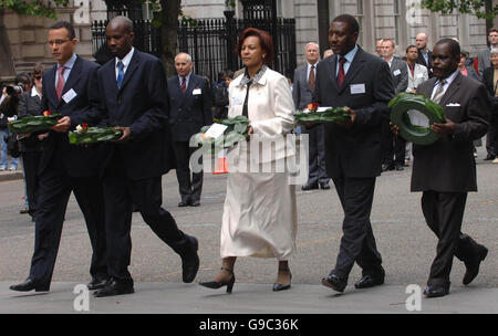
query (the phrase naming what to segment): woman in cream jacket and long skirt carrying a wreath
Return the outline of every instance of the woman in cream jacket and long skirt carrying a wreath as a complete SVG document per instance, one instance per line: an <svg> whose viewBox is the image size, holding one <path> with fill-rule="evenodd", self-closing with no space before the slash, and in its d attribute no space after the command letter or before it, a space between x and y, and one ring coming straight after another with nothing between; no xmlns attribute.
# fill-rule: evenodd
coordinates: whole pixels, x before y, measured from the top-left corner
<svg viewBox="0 0 498 336"><path fill-rule="evenodd" d="M249 140L228 154L241 169L230 170L228 176L221 224L222 266L214 281L200 285L227 286L231 293L237 256L276 258L279 267L273 291L282 291L291 285L288 259L295 251L295 188L287 172L266 172L274 170L261 168L279 167L294 155L292 145L281 146L278 141L293 128L294 104L286 77L267 66L273 59L273 43L267 32L246 29L237 48L245 73L230 83L228 117L249 118ZM271 141L276 146L272 155L258 155L253 165L255 148L260 147L257 141L267 148L273 148L268 145ZM250 170L245 169L247 165Z"/></svg>

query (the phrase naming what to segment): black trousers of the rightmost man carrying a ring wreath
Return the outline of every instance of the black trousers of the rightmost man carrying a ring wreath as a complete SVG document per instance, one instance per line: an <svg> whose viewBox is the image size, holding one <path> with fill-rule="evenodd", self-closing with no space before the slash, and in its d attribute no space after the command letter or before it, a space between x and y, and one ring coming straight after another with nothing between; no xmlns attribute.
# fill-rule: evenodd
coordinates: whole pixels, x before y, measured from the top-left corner
<svg viewBox="0 0 498 336"><path fill-rule="evenodd" d="M477 242L461 233L466 201L467 192L424 191L422 195L425 221L438 238L427 285L449 285L453 256L465 262L478 251Z"/></svg>

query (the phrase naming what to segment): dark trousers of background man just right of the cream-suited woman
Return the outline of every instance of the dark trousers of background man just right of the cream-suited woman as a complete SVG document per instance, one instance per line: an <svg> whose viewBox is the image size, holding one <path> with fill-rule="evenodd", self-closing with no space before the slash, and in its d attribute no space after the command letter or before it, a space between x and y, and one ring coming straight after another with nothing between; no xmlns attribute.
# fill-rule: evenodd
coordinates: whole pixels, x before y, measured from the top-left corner
<svg viewBox="0 0 498 336"><path fill-rule="evenodd" d="M325 170L325 128L323 125L318 125L307 128L305 133L309 135L310 148L308 185L317 182L328 185L330 178Z"/></svg>

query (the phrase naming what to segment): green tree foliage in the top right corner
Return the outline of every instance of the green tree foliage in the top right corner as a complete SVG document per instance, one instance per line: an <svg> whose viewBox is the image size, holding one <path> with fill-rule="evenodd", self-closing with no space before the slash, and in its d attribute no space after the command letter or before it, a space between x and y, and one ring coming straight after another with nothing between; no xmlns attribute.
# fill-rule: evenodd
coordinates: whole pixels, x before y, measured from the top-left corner
<svg viewBox="0 0 498 336"><path fill-rule="evenodd" d="M492 6L491 0L422 0L421 6L443 14L458 10L460 13L473 14L479 19L492 19L498 15L498 6Z"/></svg>

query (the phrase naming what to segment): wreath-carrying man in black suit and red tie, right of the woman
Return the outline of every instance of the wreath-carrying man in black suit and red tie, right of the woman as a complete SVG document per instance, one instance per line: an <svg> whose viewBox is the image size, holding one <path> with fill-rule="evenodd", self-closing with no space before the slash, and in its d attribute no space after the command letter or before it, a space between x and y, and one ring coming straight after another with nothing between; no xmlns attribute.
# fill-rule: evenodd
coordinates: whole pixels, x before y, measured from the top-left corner
<svg viewBox="0 0 498 336"><path fill-rule="evenodd" d="M344 222L335 267L322 284L338 292L344 291L354 262L363 269L356 288L383 284L385 276L370 214L394 86L388 64L356 45L359 31L354 17L335 18L329 30L334 55L320 62L317 71L315 101L347 106L351 115L345 123L325 124L326 172L338 190Z"/></svg>

